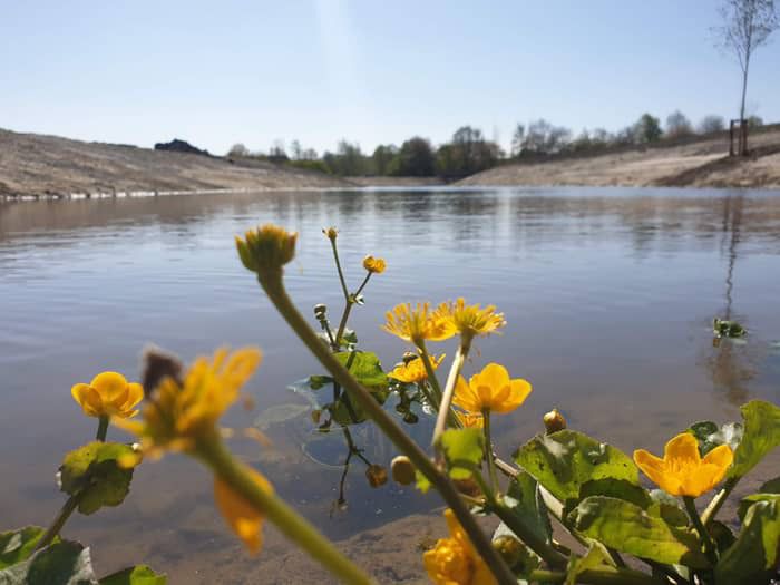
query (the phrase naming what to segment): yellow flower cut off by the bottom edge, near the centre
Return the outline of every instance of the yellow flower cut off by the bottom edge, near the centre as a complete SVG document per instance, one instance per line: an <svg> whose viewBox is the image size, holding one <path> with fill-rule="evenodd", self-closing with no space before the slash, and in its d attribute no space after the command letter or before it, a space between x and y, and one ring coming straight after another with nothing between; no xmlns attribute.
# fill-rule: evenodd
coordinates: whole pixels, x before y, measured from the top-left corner
<svg viewBox="0 0 780 585"><path fill-rule="evenodd" d="M422 563L436 585L495 585L490 569L474 548L452 510L445 510L449 538L423 553Z"/></svg>

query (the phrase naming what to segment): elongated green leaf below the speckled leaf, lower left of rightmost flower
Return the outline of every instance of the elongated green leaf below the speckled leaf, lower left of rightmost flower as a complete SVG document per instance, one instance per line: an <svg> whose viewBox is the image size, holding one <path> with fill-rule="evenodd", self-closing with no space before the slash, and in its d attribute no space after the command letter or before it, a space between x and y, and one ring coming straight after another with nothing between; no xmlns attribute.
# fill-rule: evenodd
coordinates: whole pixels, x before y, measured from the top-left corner
<svg viewBox="0 0 780 585"><path fill-rule="evenodd" d="M568 521L583 535L615 550L659 563L708 566L692 533L670 526L622 499L586 498L568 515Z"/></svg>

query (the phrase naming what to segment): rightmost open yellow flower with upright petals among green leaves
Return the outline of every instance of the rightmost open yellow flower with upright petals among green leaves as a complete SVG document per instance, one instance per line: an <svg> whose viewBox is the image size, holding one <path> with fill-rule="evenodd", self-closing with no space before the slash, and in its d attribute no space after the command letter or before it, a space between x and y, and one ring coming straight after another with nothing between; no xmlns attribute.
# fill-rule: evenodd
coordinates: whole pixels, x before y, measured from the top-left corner
<svg viewBox="0 0 780 585"><path fill-rule="evenodd" d="M661 489L672 496L696 498L710 491L723 479L734 454L728 445L712 449L702 459L699 441L690 432L671 439L663 459L644 449L634 451L634 462Z"/></svg>

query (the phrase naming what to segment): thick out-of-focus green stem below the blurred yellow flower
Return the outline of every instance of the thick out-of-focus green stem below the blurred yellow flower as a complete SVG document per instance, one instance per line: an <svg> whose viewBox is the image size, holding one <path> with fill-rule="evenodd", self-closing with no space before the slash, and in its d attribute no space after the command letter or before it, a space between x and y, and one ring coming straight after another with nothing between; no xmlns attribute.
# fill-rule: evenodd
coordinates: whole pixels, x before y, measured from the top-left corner
<svg viewBox="0 0 780 585"><path fill-rule="evenodd" d="M347 558L316 528L287 506L280 497L257 486L247 468L225 449L222 439L214 435L197 442L197 454L214 474L256 510L271 520L287 538L303 548L342 583L372 583L361 568Z"/></svg>

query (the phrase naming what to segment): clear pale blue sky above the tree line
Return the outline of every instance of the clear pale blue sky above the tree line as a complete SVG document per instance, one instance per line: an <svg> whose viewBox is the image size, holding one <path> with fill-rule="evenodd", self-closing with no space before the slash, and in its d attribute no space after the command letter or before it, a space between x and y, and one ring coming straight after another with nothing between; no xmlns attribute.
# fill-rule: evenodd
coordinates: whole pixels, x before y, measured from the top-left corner
<svg viewBox="0 0 780 585"><path fill-rule="evenodd" d="M0 0L0 127L222 154L738 113L716 0ZM780 33L748 109L780 120Z"/></svg>

